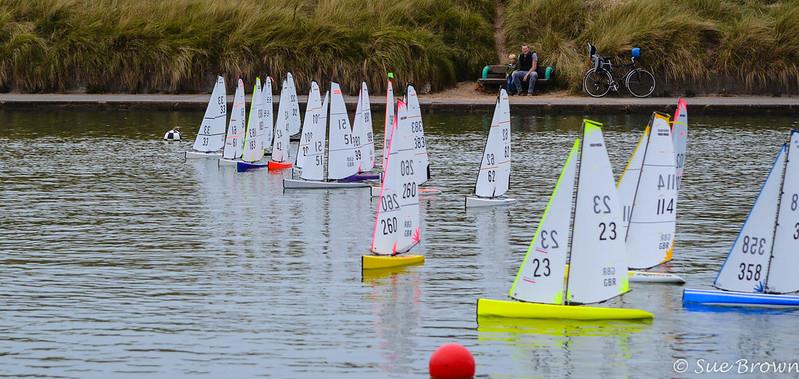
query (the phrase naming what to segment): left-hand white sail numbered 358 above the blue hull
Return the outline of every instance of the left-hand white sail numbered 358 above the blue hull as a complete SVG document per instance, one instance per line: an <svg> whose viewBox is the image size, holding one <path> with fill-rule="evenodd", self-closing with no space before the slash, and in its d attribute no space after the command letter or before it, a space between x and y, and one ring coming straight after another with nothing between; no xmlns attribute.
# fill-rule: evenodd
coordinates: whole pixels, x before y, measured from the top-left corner
<svg viewBox="0 0 799 379"><path fill-rule="evenodd" d="M780 149L766 183L760 189L727 260L721 266L716 288L737 292L764 292L769 253L774 238L787 147Z"/></svg>

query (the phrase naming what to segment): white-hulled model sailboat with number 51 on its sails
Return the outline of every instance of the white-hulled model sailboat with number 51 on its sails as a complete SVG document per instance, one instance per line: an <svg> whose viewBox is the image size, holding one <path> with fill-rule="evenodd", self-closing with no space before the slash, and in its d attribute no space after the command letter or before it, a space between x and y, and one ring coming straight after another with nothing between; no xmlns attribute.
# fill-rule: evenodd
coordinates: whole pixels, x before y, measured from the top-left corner
<svg viewBox="0 0 799 379"><path fill-rule="evenodd" d="M308 94L308 112L303 139L306 146L301 146L304 155L297 160L301 165L301 179L283 179L285 189L330 189L330 188L369 188L367 183L343 182L342 179L355 175L355 145L352 141L347 108L338 83L330 84L330 138L328 139L327 178L324 172L324 144L327 129L328 97L320 102L319 86L311 83ZM308 117L311 122L307 123ZM307 136L307 138L306 138Z"/></svg>

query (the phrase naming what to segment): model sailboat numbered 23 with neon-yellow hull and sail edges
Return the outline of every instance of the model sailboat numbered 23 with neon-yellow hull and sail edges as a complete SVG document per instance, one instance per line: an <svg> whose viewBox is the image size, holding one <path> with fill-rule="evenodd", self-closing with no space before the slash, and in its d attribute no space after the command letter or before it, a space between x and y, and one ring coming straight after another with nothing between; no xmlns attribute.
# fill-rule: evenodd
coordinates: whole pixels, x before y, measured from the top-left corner
<svg viewBox="0 0 799 379"><path fill-rule="evenodd" d="M572 146L510 288L509 296L517 301L478 299L478 317L653 317L637 309L576 306L629 291L621 208L600 128L601 124L583 121L582 144L577 139Z"/></svg>

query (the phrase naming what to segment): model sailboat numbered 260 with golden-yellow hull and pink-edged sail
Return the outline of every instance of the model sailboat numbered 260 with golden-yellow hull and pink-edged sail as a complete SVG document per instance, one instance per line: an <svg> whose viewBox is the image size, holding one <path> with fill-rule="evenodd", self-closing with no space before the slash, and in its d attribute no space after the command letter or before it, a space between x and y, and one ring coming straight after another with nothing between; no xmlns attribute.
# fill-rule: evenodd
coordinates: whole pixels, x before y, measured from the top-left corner
<svg viewBox="0 0 799 379"><path fill-rule="evenodd" d="M405 255L421 241L419 195L411 119L404 102L397 103L389 158L377 205L372 253L361 259L363 270L388 269L424 262L422 255Z"/></svg>

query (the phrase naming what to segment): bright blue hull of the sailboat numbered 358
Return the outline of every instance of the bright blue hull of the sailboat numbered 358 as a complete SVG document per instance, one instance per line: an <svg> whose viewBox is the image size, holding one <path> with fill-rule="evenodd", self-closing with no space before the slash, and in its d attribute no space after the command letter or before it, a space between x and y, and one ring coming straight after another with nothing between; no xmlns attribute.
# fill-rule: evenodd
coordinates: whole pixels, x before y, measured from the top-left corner
<svg viewBox="0 0 799 379"><path fill-rule="evenodd" d="M683 305L705 304L755 307L799 307L799 296L686 288L682 293L682 302Z"/></svg>

